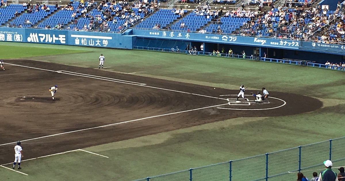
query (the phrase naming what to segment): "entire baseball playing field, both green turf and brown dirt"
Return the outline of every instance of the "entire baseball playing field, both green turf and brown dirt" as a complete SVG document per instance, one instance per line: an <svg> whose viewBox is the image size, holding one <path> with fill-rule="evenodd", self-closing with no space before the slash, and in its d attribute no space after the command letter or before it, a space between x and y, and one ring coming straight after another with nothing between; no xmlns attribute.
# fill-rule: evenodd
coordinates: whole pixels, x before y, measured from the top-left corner
<svg viewBox="0 0 345 181"><path fill-rule="evenodd" d="M1 180L129 181L344 136L344 72L139 50L0 49ZM262 87L269 103L249 95ZM18 140L22 169L12 170Z"/></svg>

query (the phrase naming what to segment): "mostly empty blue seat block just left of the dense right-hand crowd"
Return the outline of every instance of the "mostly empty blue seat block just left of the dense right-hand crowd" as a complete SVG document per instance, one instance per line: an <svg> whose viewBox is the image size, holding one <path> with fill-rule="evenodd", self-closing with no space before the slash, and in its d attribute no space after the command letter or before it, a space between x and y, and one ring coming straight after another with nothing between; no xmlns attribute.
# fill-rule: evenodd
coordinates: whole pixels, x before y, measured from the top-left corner
<svg viewBox="0 0 345 181"><path fill-rule="evenodd" d="M240 28L240 26L243 25L243 22L247 22L249 20L250 18L221 17L220 22L222 24L210 24L210 26L206 27L206 31L217 31L219 27L223 31L223 33L232 33L236 29Z"/></svg>

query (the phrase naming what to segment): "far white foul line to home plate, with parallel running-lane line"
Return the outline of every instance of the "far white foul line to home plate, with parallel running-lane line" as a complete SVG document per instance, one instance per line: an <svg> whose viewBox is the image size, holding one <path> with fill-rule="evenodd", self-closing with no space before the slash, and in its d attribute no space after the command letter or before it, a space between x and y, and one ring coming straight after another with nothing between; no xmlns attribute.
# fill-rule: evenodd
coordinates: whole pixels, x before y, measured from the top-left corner
<svg viewBox="0 0 345 181"><path fill-rule="evenodd" d="M7 63L7 64L10 64L10 65L13 65L13 66L20 66L20 67L31 68L31 69L39 69L39 68L35 68L35 67L21 66L21 65L12 64L12 63ZM190 92L183 92L183 91L178 91L178 90L171 90L171 89L164 89L164 88L159 88L159 87L146 86L145 83L131 82L131 81L120 80L120 79L112 79L112 78L108 78L108 77L94 76L94 75L83 74L83 73L78 73L78 72L70 72L70 71L65 71L65 70L54 71L54 70L47 70L47 69L39 69L39 70L46 70L46 71L57 72L57 73L65 73L65 74L69 74L69 75L73 75L73 76L87 77L87 78L106 80L106 81L112 81L112 82L118 82L118 83L126 83L126 84L131 84L131 85L136 85L136 86L144 86L144 87L153 88L153 89L174 91L174 92L198 95L198 96L202 96L202 97L227 100L227 99L224 99L224 98L217 98L217 97L212 97L212 96L208 96L208 95L201 95L201 94L195 94L195 93L190 93ZM121 73L121 72L118 72L118 73Z"/></svg>

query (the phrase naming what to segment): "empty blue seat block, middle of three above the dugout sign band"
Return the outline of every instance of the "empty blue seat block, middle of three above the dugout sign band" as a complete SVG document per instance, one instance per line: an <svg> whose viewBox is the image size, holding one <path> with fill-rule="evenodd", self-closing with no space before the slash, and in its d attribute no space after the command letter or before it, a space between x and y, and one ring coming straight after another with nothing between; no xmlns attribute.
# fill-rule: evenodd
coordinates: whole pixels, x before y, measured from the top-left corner
<svg viewBox="0 0 345 181"><path fill-rule="evenodd" d="M177 23L171 26L171 30L182 30L187 31L197 31L200 27L207 24L207 22L211 21L211 18L205 18L205 16L196 16L195 13L190 13L186 17L179 20ZM181 23L184 22L184 28L180 28Z"/></svg>

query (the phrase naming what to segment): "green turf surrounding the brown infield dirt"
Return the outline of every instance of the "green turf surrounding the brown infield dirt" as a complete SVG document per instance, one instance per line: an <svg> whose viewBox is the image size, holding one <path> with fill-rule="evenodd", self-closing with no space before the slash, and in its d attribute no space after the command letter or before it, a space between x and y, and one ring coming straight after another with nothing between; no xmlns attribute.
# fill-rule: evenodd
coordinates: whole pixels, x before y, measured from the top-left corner
<svg viewBox="0 0 345 181"><path fill-rule="evenodd" d="M0 47L4 45L28 44L0 43ZM79 173L86 172L79 174L80 179L77 180L144 178L344 136L343 128L339 126L345 110L344 72L176 53L31 45L11 49L19 52L45 49L46 54L36 54L39 57L33 57L35 55L11 54L6 51L2 56L7 58L3 59L22 56L30 57L28 59L32 60L96 68L98 57L103 53L106 57L105 67L111 67L108 70L112 71L139 72L136 75L227 89L237 89L241 84L252 89L266 87L268 91L293 92L321 98L324 102L324 108L310 113L282 117L236 118L87 148L110 158L104 162L96 157L98 161L95 161L93 155L88 155L85 157L87 159L82 159L81 167L80 160L76 161L75 166L82 169ZM67 51L76 54L62 54ZM52 55L48 55L48 52ZM89 158L91 156L92 158ZM57 156L57 159L42 158L42 161L28 161L23 164L30 163L44 170L45 164L42 163L49 162L49 165L60 168L63 167L58 159L60 157L73 160L75 156L65 154ZM315 159L322 163L324 158ZM89 165L93 164L100 165L95 165L89 170ZM75 178L70 170L61 169L66 180ZM56 175L55 172L58 171L51 172L48 172L50 176ZM33 176L29 178L45 180L44 172L33 170L31 173ZM99 179L90 176L92 173L99 173ZM1 168L0 175L9 175L8 178L11 179L22 179L25 176ZM310 178L310 175L308 176Z"/></svg>

